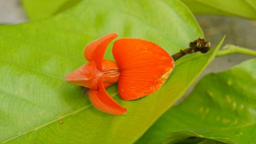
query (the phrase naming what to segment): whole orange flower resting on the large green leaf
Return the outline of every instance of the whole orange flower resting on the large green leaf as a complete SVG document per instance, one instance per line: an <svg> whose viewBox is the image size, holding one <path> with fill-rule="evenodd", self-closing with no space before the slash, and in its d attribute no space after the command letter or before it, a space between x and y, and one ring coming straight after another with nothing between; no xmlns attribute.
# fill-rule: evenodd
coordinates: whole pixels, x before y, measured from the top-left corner
<svg viewBox="0 0 256 144"><path fill-rule="evenodd" d="M118 92L124 100L145 97L164 84L174 60L159 45L138 38L118 39L113 46L116 62L103 60L107 46L117 36L111 33L87 45L84 57L89 62L68 74L66 81L89 87L89 99L99 110L123 115L127 109L112 99L105 88L118 82Z"/></svg>

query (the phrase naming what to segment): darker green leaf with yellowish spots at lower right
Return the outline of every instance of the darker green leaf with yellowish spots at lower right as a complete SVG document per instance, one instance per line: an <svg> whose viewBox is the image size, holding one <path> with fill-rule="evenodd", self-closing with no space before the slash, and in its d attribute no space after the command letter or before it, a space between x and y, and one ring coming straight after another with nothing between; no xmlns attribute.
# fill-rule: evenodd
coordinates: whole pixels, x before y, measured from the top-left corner
<svg viewBox="0 0 256 144"><path fill-rule="evenodd" d="M198 137L225 143L256 142L256 59L201 79L137 143Z"/></svg>

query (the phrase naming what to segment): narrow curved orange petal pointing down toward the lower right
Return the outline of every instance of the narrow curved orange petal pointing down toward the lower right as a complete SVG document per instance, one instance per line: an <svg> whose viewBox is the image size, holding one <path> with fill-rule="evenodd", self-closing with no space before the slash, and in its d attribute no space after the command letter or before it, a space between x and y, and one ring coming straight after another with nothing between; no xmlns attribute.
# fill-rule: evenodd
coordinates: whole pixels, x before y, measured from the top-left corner
<svg viewBox="0 0 256 144"><path fill-rule="evenodd" d="M94 107L109 114L123 115L127 111L126 108L120 106L114 99L110 97L103 85L102 79L99 81L98 90L90 89L89 99Z"/></svg>

